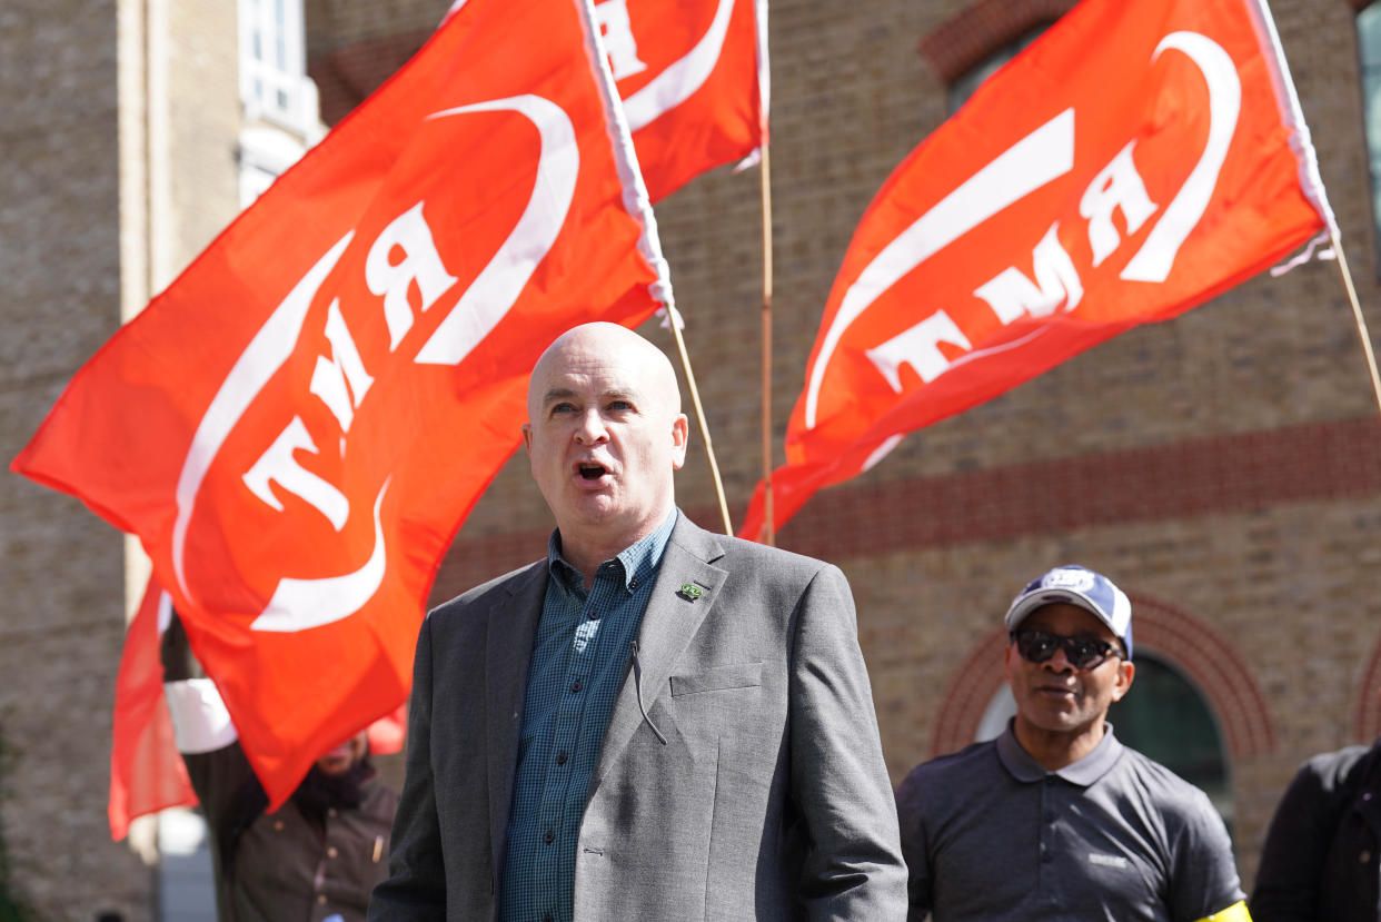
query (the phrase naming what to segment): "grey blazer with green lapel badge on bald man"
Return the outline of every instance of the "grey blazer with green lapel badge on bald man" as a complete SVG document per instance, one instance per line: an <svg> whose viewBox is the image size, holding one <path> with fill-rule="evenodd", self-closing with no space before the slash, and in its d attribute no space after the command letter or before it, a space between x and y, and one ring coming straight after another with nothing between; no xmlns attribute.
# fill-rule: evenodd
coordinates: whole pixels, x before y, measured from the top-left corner
<svg viewBox="0 0 1381 922"><path fill-rule="evenodd" d="M702 594L679 593L685 583ZM369 918L493 919L545 560L431 612ZM906 918L906 865L838 568L678 517L576 846L574 918Z"/></svg>

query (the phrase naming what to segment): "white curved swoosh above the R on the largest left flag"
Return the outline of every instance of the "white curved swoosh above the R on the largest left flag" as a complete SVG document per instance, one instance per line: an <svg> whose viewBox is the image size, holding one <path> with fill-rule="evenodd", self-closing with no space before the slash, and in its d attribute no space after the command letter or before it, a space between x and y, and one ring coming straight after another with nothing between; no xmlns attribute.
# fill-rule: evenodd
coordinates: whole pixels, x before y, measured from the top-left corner
<svg viewBox="0 0 1381 922"><path fill-rule="evenodd" d="M432 112L428 119L464 112L514 111L526 116L541 138L537 181L528 207L489 264L460 296L427 343L417 351L420 365L457 365L518 300L537 264L557 241L580 174L580 147L565 111L550 100L523 94Z"/></svg>

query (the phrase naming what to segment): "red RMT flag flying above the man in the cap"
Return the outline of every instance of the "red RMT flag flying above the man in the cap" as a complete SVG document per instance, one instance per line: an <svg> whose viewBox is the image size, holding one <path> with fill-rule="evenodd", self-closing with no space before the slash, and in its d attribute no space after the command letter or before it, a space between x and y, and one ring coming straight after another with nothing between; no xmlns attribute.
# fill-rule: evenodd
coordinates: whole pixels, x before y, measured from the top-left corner
<svg viewBox="0 0 1381 922"><path fill-rule="evenodd" d="M1331 220L1259 0L1085 0L869 206L787 426L776 524L905 433L1175 317Z"/></svg>

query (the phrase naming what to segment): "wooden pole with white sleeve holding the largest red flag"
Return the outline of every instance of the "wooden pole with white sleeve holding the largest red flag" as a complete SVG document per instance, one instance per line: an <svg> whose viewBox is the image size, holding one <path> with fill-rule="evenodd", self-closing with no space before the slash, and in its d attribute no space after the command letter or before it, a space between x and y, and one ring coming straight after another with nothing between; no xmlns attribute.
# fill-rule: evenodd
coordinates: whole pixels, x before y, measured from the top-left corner
<svg viewBox="0 0 1381 922"><path fill-rule="evenodd" d="M632 147L632 133L628 130L628 119L623 111L623 101L619 98L619 88L615 86L613 69L609 66L609 55L603 47L603 37L599 30L599 21L595 17L594 0L573 0L581 12L586 26L586 40L588 43L590 64L595 70L595 80L603 95L605 111L609 116L609 140L613 142L615 160L619 164L619 174L624 184L624 205L628 213L642 221L642 238L638 249L657 278L650 285L653 297L661 301L667 312L667 322L671 325L671 336L677 341L677 352L681 354L681 368L685 369L686 387L690 391L690 402L695 406L695 417L700 424L700 437L704 438L704 453L710 460L710 477L714 480L714 492L720 499L720 514L724 517L724 534L733 534L733 524L729 520L729 503L724 498L724 481L720 478L720 463L714 456L714 442L710 440L710 424L704 417L704 408L700 405L700 390L695 383L695 372L690 370L690 355L686 352L685 340L681 337L684 321L677 310L675 296L671 292L671 271L667 260L661 254L661 239L657 235L657 218L652 213L652 200L648 198L648 185L642 180L642 169L638 166L638 153Z"/></svg>

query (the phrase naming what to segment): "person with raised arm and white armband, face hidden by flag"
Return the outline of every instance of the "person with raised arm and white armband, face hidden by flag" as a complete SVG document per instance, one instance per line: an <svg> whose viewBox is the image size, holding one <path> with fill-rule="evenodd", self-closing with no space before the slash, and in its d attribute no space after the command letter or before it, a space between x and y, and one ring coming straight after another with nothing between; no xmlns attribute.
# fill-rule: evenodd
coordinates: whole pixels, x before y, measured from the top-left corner
<svg viewBox="0 0 1381 922"><path fill-rule="evenodd" d="M398 809L365 733L323 753L287 803L267 813L268 795L175 615L160 652L178 749L211 832L217 918L362 922L388 867Z"/></svg>

